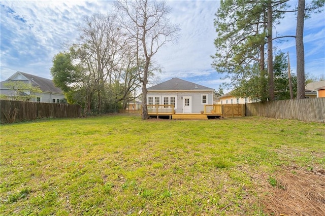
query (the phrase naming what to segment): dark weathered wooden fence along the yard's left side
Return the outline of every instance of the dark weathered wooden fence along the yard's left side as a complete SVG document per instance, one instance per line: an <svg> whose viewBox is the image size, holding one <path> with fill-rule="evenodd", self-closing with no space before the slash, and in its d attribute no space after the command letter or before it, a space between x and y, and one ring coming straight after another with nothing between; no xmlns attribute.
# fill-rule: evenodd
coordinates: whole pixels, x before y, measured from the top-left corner
<svg viewBox="0 0 325 216"><path fill-rule="evenodd" d="M20 122L40 118L78 118L80 105L0 100L1 123Z"/></svg>

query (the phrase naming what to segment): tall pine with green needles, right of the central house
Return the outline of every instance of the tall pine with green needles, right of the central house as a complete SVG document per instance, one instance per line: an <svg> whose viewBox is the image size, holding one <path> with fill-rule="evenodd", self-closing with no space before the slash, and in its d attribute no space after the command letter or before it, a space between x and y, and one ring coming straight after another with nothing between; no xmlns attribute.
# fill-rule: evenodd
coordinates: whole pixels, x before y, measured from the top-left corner
<svg viewBox="0 0 325 216"><path fill-rule="evenodd" d="M282 17L278 10L286 7L287 1L237 0L221 1L214 25L218 33L215 39L217 52L212 66L218 73L230 78L234 88L250 80L250 75L259 71L258 95L274 99L272 25ZM265 67L265 45L268 45L268 76ZM257 71L249 69L256 68ZM255 79L255 78L254 78ZM268 79L265 82L265 79ZM264 86L263 86L264 85ZM268 86L268 87L267 87ZM259 96L260 97L260 96Z"/></svg>

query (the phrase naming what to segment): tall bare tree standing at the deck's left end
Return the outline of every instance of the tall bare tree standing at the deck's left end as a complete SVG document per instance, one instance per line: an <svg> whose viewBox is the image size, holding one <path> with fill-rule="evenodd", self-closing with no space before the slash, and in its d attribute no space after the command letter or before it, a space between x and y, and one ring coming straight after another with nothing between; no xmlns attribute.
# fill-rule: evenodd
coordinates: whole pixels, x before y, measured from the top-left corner
<svg viewBox="0 0 325 216"><path fill-rule="evenodd" d="M137 47L138 68L141 66L141 59L145 59L143 73L139 79L142 84L142 119L148 119L147 83L152 56L161 46L177 40L180 29L169 22L168 14L171 8L166 2L120 0L116 8L120 15L120 23L128 35L128 41Z"/></svg>

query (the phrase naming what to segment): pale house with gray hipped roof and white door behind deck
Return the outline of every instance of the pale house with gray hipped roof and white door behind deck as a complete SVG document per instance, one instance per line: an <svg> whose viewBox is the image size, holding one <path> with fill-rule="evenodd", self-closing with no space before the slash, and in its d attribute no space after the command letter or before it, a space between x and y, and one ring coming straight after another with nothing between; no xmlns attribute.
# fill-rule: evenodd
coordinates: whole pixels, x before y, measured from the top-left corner
<svg viewBox="0 0 325 216"><path fill-rule="evenodd" d="M201 113L213 104L214 89L179 78L148 88L147 104L172 104L176 113Z"/></svg>

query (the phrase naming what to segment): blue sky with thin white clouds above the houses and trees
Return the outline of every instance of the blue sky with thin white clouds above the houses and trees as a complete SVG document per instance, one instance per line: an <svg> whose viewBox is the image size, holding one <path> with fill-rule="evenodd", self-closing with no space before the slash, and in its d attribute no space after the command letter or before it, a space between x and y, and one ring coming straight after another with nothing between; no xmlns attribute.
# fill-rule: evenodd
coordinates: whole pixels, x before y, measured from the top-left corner
<svg viewBox="0 0 325 216"><path fill-rule="evenodd" d="M160 48L153 60L162 70L160 82L173 77L218 90L229 82L212 68L217 36L214 27L219 1L169 0L170 21L181 28L178 43ZM308 0L306 1L308 2ZM79 36L78 26L85 16L108 14L112 1L1 1L0 80L16 71L51 79L54 55L63 44L73 44ZM289 4L296 5L297 0ZM305 20L305 73L309 77L325 76L325 12L312 14ZM289 13L274 26L273 35L294 35L296 15ZM289 52L290 66L296 73L295 40L275 41L274 46ZM224 89L224 92L227 92Z"/></svg>

